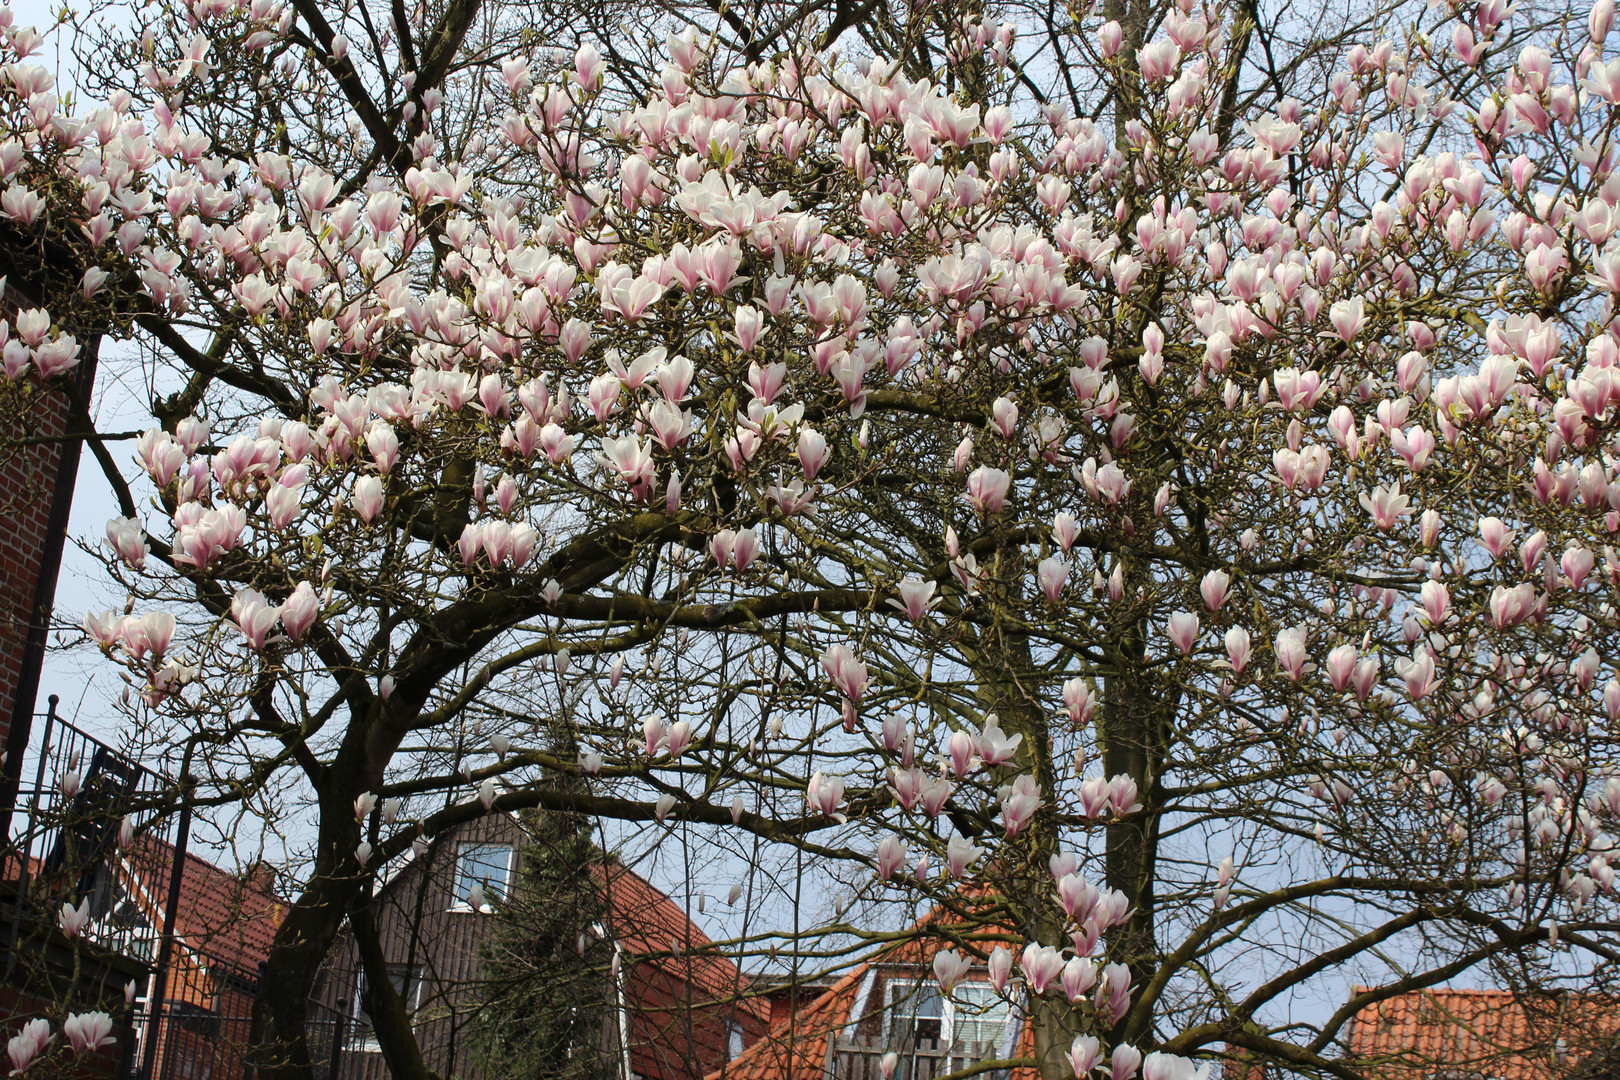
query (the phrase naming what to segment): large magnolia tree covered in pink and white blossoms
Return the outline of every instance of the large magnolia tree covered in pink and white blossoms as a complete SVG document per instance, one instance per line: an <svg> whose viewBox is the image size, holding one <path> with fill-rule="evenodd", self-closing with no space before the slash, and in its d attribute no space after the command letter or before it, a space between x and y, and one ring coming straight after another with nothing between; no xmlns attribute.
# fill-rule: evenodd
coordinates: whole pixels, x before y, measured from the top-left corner
<svg viewBox="0 0 1620 1080"><path fill-rule="evenodd" d="M395 13L146 5L100 105L5 37L6 377L154 387L84 633L185 798L308 806L262 1075L377 876L528 806L943 905L1048 1080L1353 1075L1369 1004L1615 955L1609 0L723 21L646 84Z"/></svg>

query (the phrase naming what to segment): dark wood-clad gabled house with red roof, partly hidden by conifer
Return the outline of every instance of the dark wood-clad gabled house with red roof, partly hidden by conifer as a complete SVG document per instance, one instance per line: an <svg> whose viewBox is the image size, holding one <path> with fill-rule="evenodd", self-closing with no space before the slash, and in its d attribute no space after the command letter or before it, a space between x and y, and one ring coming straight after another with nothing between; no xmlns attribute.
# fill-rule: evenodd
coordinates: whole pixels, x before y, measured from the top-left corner
<svg viewBox="0 0 1620 1080"><path fill-rule="evenodd" d="M473 1077L473 1022L481 952L492 929L488 905L517 878L522 823L489 814L436 839L386 879L376 894L377 936L389 976L405 997L429 1069ZM603 1080L700 1080L758 1040L770 1006L718 955L685 912L635 871L606 860L591 866L603 897L599 933L617 954L612 1017L603 1048L614 1062ZM316 1001L352 1015L343 1080L386 1080L387 1065L364 1014L364 975L350 934L334 946Z"/></svg>

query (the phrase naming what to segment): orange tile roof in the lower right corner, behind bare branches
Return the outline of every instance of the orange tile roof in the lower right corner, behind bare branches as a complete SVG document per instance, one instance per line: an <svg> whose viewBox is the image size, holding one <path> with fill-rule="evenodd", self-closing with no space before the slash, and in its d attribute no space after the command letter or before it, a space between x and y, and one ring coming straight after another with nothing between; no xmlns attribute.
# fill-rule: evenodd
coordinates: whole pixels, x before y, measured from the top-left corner
<svg viewBox="0 0 1620 1080"><path fill-rule="evenodd" d="M1541 1080L1617 1035L1620 1002L1601 994L1419 989L1358 1012L1349 1057L1380 1080L1427 1080L1437 1072Z"/></svg>

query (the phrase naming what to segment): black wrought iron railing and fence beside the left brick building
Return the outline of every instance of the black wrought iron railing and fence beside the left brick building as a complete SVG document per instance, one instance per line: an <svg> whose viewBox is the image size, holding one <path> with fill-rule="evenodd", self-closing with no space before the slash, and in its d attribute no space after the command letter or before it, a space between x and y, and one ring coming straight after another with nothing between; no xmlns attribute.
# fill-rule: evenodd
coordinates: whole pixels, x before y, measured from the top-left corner
<svg viewBox="0 0 1620 1080"><path fill-rule="evenodd" d="M0 837L3 1001L26 1014L65 989L84 999L79 1007L115 1009L120 1080L253 1080L256 967L177 944L191 831L190 808L175 808L180 787L66 722L57 704L52 696L36 721L39 742ZM71 949L58 928L63 900L89 900ZM133 1007L110 1004L125 978L136 983ZM347 1041L347 1002L311 999L316 1080L342 1080Z"/></svg>

